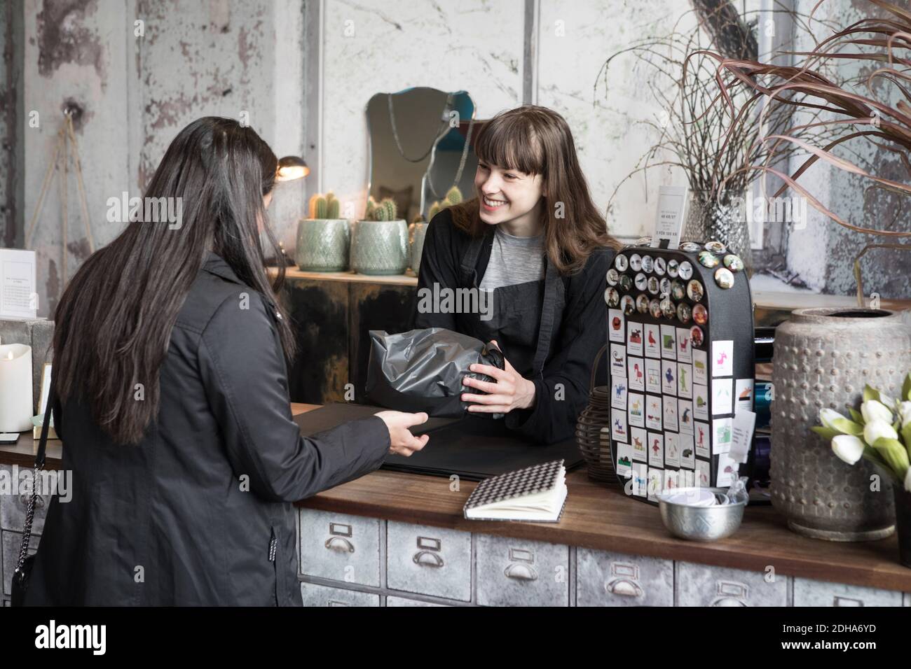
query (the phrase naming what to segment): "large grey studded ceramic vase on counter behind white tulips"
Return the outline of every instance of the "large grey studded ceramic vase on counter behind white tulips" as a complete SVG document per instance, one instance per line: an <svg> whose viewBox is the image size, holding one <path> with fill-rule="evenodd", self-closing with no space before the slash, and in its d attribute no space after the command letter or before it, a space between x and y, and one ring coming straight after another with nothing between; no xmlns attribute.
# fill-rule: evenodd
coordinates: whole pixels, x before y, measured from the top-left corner
<svg viewBox="0 0 911 669"><path fill-rule="evenodd" d="M881 539L895 530L882 472L835 457L810 428L827 407L845 416L865 383L898 397L911 370L911 329L885 309L797 309L775 332L772 503L794 531L817 539ZM871 485L877 474L880 490ZM871 490L873 488L873 490Z"/></svg>

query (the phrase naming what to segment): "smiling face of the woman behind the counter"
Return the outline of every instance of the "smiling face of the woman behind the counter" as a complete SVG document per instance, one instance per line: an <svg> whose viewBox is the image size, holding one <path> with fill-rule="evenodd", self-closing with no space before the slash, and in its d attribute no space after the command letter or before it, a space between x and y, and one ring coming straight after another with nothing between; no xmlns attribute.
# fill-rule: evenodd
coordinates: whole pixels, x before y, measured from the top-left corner
<svg viewBox="0 0 911 669"><path fill-rule="evenodd" d="M480 218L488 225L534 231L539 223L543 177L478 161L475 191Z"/></svg>

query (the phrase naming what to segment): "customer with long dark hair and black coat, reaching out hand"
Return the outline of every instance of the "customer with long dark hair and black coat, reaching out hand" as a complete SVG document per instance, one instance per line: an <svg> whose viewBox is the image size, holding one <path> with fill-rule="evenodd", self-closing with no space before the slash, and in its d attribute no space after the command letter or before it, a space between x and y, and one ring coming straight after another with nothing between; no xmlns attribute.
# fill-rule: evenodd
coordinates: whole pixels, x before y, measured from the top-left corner
<svg viewBox="0 0 911 669"><path fill-rule="evenodd" d="M313 438L292 420L292 328L264 269L278 161L228 118L189 124L127 228L55 314L54 424L72 476L52 499L26 604L302 603L292 502L410 455L426 414ZM176 205L175 205L176 203Z"/></svg>

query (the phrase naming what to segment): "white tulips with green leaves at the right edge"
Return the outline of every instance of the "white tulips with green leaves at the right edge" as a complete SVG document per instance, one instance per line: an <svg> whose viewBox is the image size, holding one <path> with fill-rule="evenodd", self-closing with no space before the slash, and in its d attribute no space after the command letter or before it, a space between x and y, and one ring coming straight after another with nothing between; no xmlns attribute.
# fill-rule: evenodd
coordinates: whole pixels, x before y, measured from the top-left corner
<svg viewBox="0 0 911 669"><path fill-rule="evenodd" d="M849 409L851 418L838 411L819 411L821 426L813 431L832 442L835 455L848 464L861 458L874 462L896 485L911 492L911 372L897 400L866 385L860 411Z"/></svg>

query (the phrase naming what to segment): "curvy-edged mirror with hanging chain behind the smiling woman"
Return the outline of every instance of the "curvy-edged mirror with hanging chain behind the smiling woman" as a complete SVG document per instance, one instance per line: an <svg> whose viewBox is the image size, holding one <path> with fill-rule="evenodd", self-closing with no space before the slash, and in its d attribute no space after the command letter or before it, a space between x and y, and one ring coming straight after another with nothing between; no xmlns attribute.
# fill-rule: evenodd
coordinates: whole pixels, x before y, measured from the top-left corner
<svg viewBox="0 0 911 669"><path fill-rule="evenodd" d="M377 93L367 103L370 187L374 200L393 198L399 218L426 218L435 200L458 186L470 197L477 158L475 103L466 91L425 86Z"/></svg>

